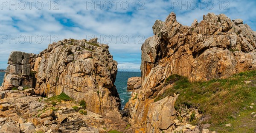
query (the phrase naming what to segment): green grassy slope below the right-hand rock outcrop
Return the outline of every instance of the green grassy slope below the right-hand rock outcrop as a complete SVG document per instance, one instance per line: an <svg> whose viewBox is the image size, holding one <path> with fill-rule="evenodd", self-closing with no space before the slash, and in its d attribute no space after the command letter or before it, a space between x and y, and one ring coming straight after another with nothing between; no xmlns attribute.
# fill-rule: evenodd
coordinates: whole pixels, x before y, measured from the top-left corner
<svg viewBox="0 0 256 133"><path fill-rule="evenodd" d="M244 83L244 80L251 81ZM166 83L172 83L155 101L174 93L180 94L175 102L175 109L180 107L198 108L199 113L211 116L205 123L220 125L233 117L250 103L255 103L256 70L241 72L226 79L212 79L209 81L189 82L186 77L171 75ZM190 119L193 121L193 119Z"/></svg>

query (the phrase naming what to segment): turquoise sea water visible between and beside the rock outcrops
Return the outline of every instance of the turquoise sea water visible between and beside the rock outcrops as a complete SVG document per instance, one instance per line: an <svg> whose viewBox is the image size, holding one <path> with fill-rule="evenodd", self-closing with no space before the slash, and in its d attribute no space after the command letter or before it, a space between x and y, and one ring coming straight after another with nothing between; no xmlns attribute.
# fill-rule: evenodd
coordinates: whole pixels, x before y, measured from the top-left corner
<svg viewBox="0 0 256 133"><path fill-rule="evenodd" d="M3 76L5 72L0 72L0 86L3 83ZM116 89L119 93L119 97L121 99L121 108L125 106L125 103L128 102L129 98L131 97L131 92L127 91L127 80L131 77L140 77L140 72L117 72L116 75Z"/></svg>

